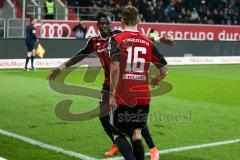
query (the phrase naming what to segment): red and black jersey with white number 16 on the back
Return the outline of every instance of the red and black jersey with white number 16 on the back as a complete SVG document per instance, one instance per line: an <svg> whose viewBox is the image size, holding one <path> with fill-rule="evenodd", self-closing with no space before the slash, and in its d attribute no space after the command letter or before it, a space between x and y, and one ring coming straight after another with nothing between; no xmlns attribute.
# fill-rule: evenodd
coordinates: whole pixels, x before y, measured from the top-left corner
<svg viewBox="0 0 240 160"><path fill-rule="evenodd" d="M127 106L148 105L150 90L148 68L166 65L165 58L148 37L138 31L124 31L110 40L111 61L120 62L120 74L115 96L118 104Z"/></svg>

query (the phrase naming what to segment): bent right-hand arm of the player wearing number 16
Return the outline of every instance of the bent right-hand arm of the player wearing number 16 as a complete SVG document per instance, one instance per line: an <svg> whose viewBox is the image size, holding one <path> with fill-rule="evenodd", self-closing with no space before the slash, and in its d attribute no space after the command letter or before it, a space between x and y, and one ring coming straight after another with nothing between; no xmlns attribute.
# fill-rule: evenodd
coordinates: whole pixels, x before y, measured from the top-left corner
<svg viewBox="0 0 240 160"><path fill-rule="evenodd" d="M152 77L150 85L154 88L158 86L158 82L164 79L168 74L168 68L166 67L167 61L160 53L158 47L154 45L152 51L152 63L157 67L159 74Z"/></svg>

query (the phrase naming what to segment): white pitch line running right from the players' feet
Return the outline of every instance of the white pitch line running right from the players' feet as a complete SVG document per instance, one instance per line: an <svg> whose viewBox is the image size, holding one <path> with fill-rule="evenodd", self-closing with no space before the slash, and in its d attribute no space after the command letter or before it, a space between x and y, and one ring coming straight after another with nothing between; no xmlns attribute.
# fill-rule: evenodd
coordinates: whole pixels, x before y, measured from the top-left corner
<svg viewBox="0 0 240 160"><path fill-rule="evenodd" d="M240 139L238 138L238 139L222 141L222 142L214 142L214 143L165 149L165 150L159 151L159 154L161 155L161 154L168 154L168 153L181 152L181 151L187 151L187 150L195 150L195 149L201 149L201 148L222 146L222 145L233 144L233 143L240 143ZM149 156L149 155L150 155L149 152L145 154L145 156ZM122 158L123 157L114 157L114 158L106 158L106 159L101 159L101 160L119 160Z"/></svg>

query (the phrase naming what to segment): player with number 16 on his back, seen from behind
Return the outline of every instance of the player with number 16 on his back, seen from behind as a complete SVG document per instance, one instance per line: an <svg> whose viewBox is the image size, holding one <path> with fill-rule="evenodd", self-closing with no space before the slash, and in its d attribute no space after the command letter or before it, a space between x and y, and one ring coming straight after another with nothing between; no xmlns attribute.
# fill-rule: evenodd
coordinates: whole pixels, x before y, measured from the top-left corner
<svg viewBox="0 0 240 160"><path fill-rule="evenodd" d="M167 64L154 42L137 30L138 10L128 6L122 11L124 31L110 39L110 122L117 147L126 160L143 160L141 132L149 112L148 68L152 62L159 75L152 87L167 75ZM131 144L125 136L129 136Z"/></svg>

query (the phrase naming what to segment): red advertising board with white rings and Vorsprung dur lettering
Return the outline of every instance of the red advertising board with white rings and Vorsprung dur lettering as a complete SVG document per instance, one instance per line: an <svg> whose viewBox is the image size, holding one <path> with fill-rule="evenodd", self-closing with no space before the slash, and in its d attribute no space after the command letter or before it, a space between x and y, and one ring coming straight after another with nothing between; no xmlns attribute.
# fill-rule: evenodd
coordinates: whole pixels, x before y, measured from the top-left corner
<svg viewBox="0 0 240 160"><path fill-rule="evenodd" d="M76 21L41 21L37 24L37 34L41 34L42 38L74 38L72 28L77 24ZM83 24L87 27L86 38L98 33L96 22L83 21ZM121 29L120 22L113 22L112 26ZM160 37L174 40L240 41L240 26L172 23L140 23L138 26L138 30L145 35L151 29Z"/></svg>

